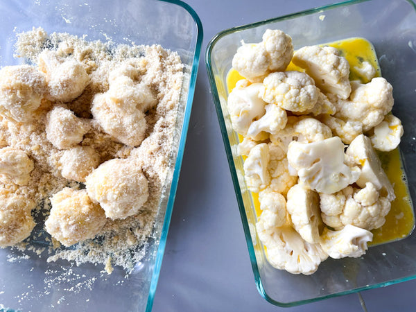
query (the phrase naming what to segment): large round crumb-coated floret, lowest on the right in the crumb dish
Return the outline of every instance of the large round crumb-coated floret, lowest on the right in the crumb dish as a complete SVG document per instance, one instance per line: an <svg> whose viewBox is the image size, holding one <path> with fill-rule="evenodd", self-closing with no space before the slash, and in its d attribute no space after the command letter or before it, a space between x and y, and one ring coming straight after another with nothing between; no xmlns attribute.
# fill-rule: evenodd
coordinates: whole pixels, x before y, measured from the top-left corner
<svg viewBox="0 0 416 312"><path fill-rule="evenodd" d="M137 214L148 200L148 180L132 159L110 159L85 179L88 195L99 202L107 218Z"/></svg>

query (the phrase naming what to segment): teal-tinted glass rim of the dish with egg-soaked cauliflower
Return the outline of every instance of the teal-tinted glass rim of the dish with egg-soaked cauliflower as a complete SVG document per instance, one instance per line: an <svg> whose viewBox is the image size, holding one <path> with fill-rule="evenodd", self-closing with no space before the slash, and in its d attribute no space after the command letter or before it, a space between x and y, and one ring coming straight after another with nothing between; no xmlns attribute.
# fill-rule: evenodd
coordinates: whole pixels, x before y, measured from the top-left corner
<svg viewBox="0 0 416 312"><path fill-rule="evenodd" d="M243 196L241 194L241 189L240 189L240 185L239 185L239 177L238 177L237 172L236 172L236 166L234 165L234 159L233 159L233 156L232 156L231 146L229 146L229 144L228 144L227 126L225 125L225 119L224 119L224 116L223 116L223 111L221 110L220 98L219 98L219 95L218 95L218 89L216 88L216 80L215 80L215 77L214 77L214 72L213 72L212 67L211 67L211 53L212 53L212 50L214 49L214 46L216 45L216 42L218 42L218 40L220 40L222 37L225 37L226 35L229 35L230 33L236 33L238 31L243 31L243 30L248 29L248 28L255 28L255 27L258 27L258 26L271 24L271 23L276 22L276 21L284 21L286 19L295 19L296 17L311 15L311 14L316 13L316 12L323 12L325 10L331 10L333 8L341 8L341 7L344 7L344 6L351 6L353 4L363 3L363 2L368 2L368 1L376 1L376 0L340 1L338 3L331 3L331 4L328 4L326 6L320 6L318 8L311 8L311 9L307 9L307 10L302 10L300 12L295 12L295 13L292 13L292 14L288 14L288 15L282 15L281 17L274 17L274 18L271 18L271 19L256 21L256 22L250 23L250 24L244 24L244 25L241 25L241 26L235 26L235 27L232 27L232 28L227 28L224 31L220 31L219 33L214 35L214 37L212 37L211 40L209 40L209 42L207 44L207 49L205 50L205 66L207 67L209 84L211 85L211 93L212 93L212 96L213 96L214 105L215 105L216 113L217 113L217 116L218 116L218 123L220 125L221 136L223 137L223 144L225 146L225 153L227 155L227 162L229 164L229 171L232 175L232 182L233 182L233 185L234 185L234 191L236 193L237 205L239 206L241 221L243 223L245 242L247 243L247 247L248 247L248 253L249 253L249 256L250 256L250 263L252 265L252 271L253 271L253 274L254 274L254 281L255 281L255 284L256 284L256 287L257 287L257 291L259 291L259 294L265 300L267 300L268 302L270 302L271 304L274 304L276 306L292 307L292 306L298 306L298 305L302 305L302 304L309 304L311 302L318 302L320 300L325 300L325 299L328 299L328 298L331 298L331 297L340 297L340 296L343 296L343 295L358 293L360 291L366 291L366 290L369 290L369 289L380 288L380 287L383 287L383 286L397 284L397 283L402 282L402 281L409 281L409 280L412 280L412 279L416 279L416 275L408 276L408 277L401 277L401 278L398 278L398 279L392 279L390 281L384 281L382 283L367 285L367 286L358 287L358 288L352 288L352 289L349 289L348 291L340 291L338 293L333 293L333 294L330 294L330 295L324 295L324 296L321 296L321 297L315 297L315 298L306 299L306 300L298 300L298 301L295 301L295 302L288 302L288 303L278 302L277 300L272 299L268 295L268 293L266 293L266 290L263 288L263 283L261 281L261 277L260 277L260 274L259 274L259 266L257 264L256 255L255 255L255 252L254 252L254 244L252 242L252 236L250 234L250 226L249 226L249 223L248 223L247 216L245 214ZM416 12L416 4L413 0L404 0L404 1L408 2L410 4L410 6L412 6L413 9Z"/></svg>

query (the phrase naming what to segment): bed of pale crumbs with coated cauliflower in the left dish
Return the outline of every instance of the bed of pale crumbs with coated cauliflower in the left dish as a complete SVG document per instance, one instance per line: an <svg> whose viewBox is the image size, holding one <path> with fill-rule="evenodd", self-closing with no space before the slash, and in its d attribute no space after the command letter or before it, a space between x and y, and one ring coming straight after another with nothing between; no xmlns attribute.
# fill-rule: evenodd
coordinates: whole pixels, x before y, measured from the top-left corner
<svg viewBox="0 0 416 312"><path fill-rule="evenodd" d="M15 57L28 65L1 69L1 204L16 211L25 203L29 233L27 211L37 223L50 217L48 261L131 270L146 252L168 174L184 78L179 55L33 28L18 35ZM89 208L69 211L78 203ZM51 207L59 211L49 215ZM95 220L103 223L98 232ZM0 241L10 231L1 227ZM60 239L65 233L73 237Z"/></svg>

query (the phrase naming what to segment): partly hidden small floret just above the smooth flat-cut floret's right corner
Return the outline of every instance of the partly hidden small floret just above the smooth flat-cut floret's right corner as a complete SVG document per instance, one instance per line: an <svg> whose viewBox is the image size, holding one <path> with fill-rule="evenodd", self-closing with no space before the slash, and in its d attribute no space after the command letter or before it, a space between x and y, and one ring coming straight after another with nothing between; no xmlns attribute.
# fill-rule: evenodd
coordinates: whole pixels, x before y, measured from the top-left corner
<svg viewBox="0 0 416 312"><path fill-rule="evenodd" d="M352 140L363 133L363 123L361 121L343 121L343 119L329 115L320 116L320 121L327 125L333 134L340 137L345 144L350 144Z"/></svg>

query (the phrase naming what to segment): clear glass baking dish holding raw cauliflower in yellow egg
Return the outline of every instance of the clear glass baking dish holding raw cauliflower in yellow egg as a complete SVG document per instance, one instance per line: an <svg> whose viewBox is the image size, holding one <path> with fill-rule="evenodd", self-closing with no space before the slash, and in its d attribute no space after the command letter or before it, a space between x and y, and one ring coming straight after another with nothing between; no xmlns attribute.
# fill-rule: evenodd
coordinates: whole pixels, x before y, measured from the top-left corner
<svg viewBox="0 0 416 312"><path fill-rule="evenodd" d="M327 259L313 275L291 275L270 266L256 233L257 215L237 153L239 137L227 112L227 73L241 40L261 42L266 29L281 29L294 49L350 37L364 37L374 45L381 73L394 88L393 113L404 125L399 146L411 199L416 196L416 6L406 0L352 0L292 15L230 28L207 46L205 61L223 135L229 168L240 209L254 279L259 293L272 304L295 306L328 297L387 286L416 278L416 234L374 245L358 259Z"/></svg>

